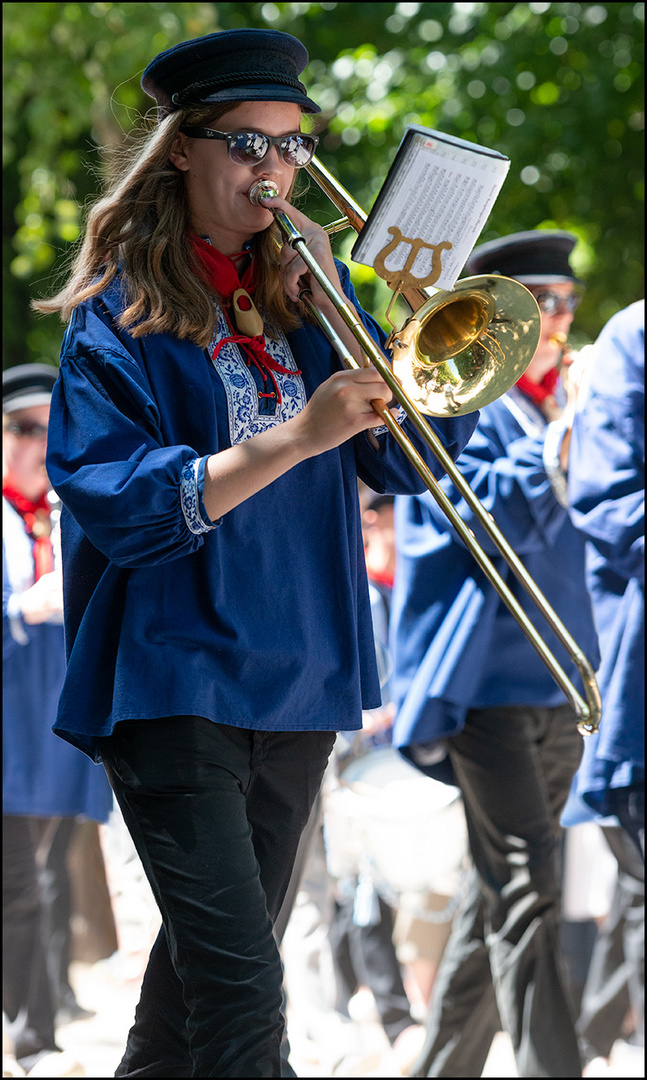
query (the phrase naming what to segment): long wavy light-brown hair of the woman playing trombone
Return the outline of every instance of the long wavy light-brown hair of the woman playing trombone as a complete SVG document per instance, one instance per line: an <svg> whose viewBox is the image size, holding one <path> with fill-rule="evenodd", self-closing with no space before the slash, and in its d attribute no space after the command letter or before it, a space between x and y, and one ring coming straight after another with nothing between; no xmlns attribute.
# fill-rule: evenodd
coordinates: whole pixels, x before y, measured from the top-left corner
<svg viewBox="0 0 647 1080"><path fill-rule="evenodd" d="M121 271L126 305L118 319L121 329L133 337L171 334L201 348L210 345L216 326L214 293L197 272L184 174L169 154L183 124L213 125L230 109L228 103L172 112L143 146L121 152L114 179L89 212L66 284L55 296L32 301L36 311L57 311L67 322L75 308L103 293ZM295 329L302 312L283 291L274 225L254 237L252 253L255 301L267 328Z"/></svg>

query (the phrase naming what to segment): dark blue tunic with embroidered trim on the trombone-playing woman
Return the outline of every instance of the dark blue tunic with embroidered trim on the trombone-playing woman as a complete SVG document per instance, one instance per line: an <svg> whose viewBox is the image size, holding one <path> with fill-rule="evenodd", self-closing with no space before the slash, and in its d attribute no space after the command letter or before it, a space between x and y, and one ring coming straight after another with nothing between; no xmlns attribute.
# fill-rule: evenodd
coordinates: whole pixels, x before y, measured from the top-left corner
<svg viewBox="0 0 647 1080"><path fill-rule="evenodd" d="M388 433L377 450L362 434L210 522L205 458L294 416L337 355L314 326L279 335L268 349L289 372L277 375L280 404L260 400L235 345L212 361L166 335L135 339L116 326L121 303L116 284L77 309L52 400L68 650L55 730L96 755L96 737L126 718L361 727L380 694L356 478L378 492L422 481ZM456 456L474 422L434 426Z"/></svg>

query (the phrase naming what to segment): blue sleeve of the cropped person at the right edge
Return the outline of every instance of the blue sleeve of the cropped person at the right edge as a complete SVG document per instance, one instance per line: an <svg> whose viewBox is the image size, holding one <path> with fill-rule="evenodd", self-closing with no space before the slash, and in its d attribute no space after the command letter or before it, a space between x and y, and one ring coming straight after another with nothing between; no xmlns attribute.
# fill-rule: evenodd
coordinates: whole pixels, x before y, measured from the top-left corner
<svg viewBox="0 0 647 1080"><path fill-rule="evenodd" d="M615 315L584 375L568 461L571 519L620 578L645 580L645 318Z"/></svg>

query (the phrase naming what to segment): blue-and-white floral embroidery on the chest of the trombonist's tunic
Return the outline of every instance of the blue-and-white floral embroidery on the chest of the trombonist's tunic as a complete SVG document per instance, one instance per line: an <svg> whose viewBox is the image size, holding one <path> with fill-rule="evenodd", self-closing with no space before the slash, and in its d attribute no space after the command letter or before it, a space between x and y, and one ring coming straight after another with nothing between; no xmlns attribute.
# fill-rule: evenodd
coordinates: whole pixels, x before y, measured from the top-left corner
<svg viewBox="0 0 647 1080"><path fill-rule="evenodd" d="M210 347L213 353L217 342L229 337L231 330L225 315L218 310L216 335ZM292 354L285 335L279 332L277 338L266 337L266 349L272 360L282 367L291 368L294 375L274 374L281 391L281 404L271 414L261 414L258 407L258 389L254 377L239 347L228 341L214 360L214 367L223 380L227 394L227 411L229 418L229 438L231 445L244 443L245 440L258 435L268 428L283 423L297 416L306 407L306 387L300 375L297 375L296 361Z"/></svg>

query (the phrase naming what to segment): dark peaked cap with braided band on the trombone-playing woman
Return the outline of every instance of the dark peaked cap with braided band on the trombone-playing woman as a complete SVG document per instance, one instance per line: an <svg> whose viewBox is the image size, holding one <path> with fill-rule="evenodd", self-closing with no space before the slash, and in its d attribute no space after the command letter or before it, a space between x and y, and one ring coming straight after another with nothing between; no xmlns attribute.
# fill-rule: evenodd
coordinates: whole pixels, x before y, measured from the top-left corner
<svg viewBox="0 0 647 1080"><path fill-rule="evenodd" d="M162 111L211 102L295 102L321 112L298 80L308 52L282 30L221 30L160 53L141 86Z"/></svg>

